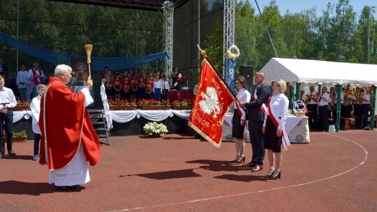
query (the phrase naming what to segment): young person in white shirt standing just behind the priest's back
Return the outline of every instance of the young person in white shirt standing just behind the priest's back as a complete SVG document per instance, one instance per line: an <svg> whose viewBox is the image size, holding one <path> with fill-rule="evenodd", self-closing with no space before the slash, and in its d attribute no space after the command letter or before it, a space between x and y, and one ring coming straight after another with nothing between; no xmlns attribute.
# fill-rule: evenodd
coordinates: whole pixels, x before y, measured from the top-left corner
<svg viewBox="0 0 377 212"><path fill-rule="evenodd" d="M40 130L38 126L39 122L39 113L40 113L40 98L42 98L43 94L45 93L46 86L44 84L38 85L38 96L34 97L31 100L30 110L31 110L31 117L33 121L31 121L31 127L33 128L34 132L34 156L33 160L39 159L39 142L40 142Z"/></svg>

